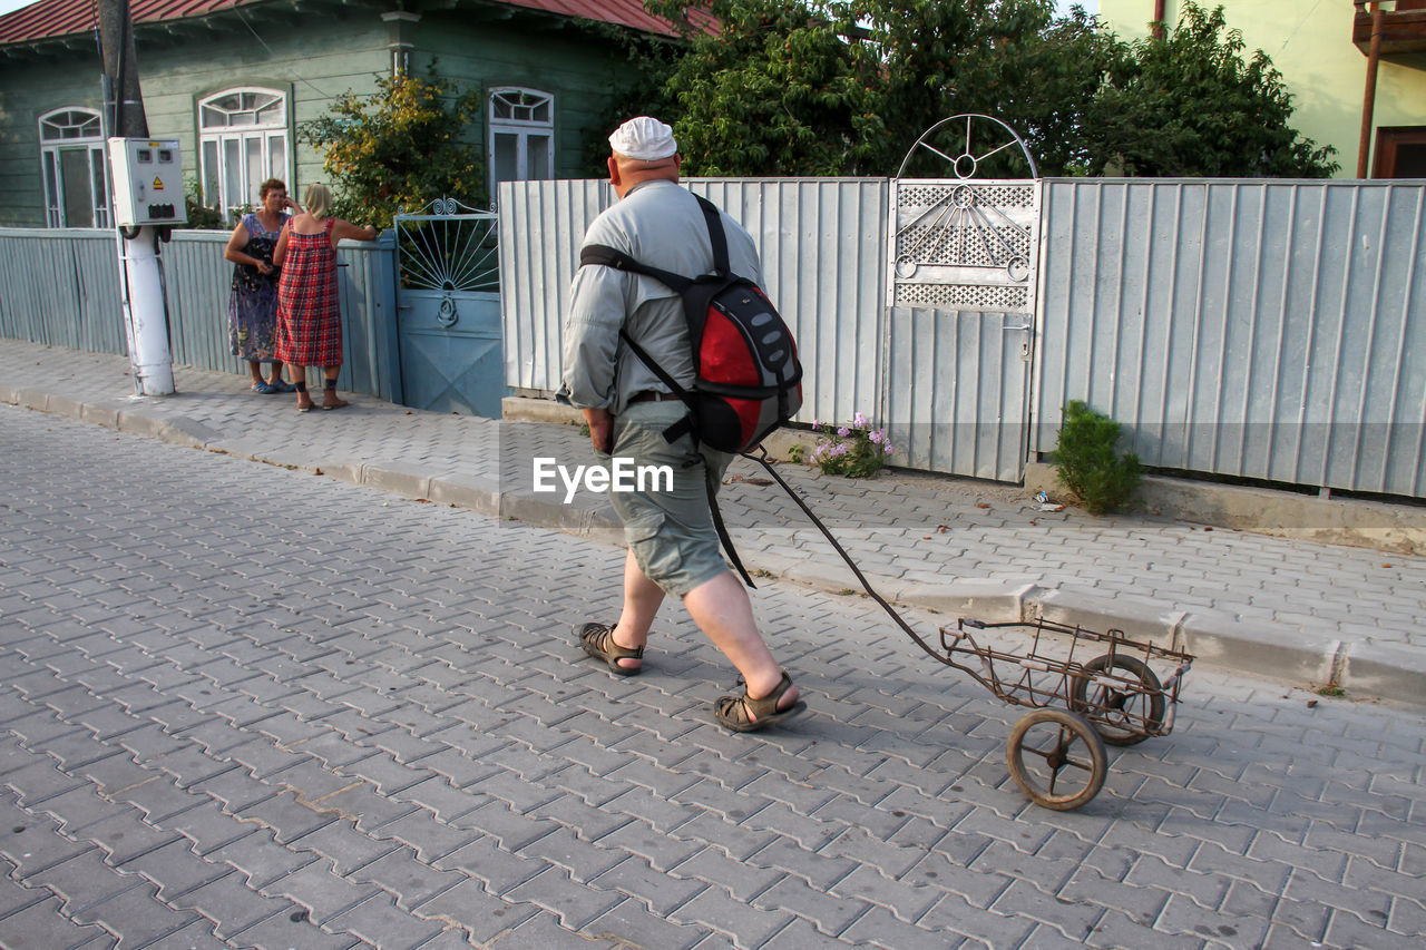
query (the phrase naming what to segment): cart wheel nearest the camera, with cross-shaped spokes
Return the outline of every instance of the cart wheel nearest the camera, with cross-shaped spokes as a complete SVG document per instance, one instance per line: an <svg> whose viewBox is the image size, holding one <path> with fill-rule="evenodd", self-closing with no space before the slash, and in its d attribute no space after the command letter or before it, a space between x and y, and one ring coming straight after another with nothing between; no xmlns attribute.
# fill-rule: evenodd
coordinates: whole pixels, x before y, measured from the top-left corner
<svg viewBox="0 0 1426 950"><path fill-rule="evenodd" d="M1077 809L1104 785L1109 770L1104 740L1084 716L1037 709L1015 723L1005 743L1010 777L1047 809Z"/></svg>

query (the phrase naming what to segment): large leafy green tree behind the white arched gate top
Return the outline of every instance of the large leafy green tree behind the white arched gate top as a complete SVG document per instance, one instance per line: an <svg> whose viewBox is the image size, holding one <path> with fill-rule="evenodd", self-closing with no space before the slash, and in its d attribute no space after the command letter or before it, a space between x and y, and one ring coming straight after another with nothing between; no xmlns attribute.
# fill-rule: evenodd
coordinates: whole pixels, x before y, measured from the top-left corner
<svg viewBox="0 0 1426 950"><path fill-rule="evenodd" d="M677 19L677 0L649 9ZM1060 174L1070 134L1117 53L1052 0L714 0L669 71L669 116L693 174L891 174L947 116L1017 128ZM910 171L944 171L931 153ZM1005 171L1001 155L984 173ZM1018 174L1024 174L1022 164Z"/></svg>

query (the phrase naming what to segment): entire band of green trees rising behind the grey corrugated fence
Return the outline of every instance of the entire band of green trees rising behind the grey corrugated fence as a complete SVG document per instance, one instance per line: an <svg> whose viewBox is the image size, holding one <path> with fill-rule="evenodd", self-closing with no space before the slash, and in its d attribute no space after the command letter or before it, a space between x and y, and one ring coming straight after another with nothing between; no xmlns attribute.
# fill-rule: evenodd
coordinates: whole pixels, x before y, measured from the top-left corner
<svg viewBox="0 0 1426 950"><path fill-rule="evenodd" d="M680 0L647 0L677 21ZM689 174L893 174L923 131L992 116L1040 173L1322 175L1291 97L1222 10L1186 3L1164 41L1128 44L1052 0L713 0L667 67L663 118ZM1024 174L1011 150L983 177ZM908 174L944 174L918 153Z"/></svg>

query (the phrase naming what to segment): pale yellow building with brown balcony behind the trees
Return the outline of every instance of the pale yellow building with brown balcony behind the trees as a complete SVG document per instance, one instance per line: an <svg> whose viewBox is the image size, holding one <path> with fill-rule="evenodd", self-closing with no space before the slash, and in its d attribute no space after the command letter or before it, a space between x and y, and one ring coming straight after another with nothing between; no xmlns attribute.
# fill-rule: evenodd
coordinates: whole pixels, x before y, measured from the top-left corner
<svg viewBox="0 0 1426 950"><path fill-rule="evenodd" d="M1099 19L1125 40L1178 21L1182 0L1099 0ZM1224 7L1248 51L1262 50L1292 93L1293 127L1336 148L1339 178L1359 177L1363 113L1370 110L1360 177L1426 178L1426 0L1199 0ZM1380 7L1375 96L1373 9Z"/></svg>

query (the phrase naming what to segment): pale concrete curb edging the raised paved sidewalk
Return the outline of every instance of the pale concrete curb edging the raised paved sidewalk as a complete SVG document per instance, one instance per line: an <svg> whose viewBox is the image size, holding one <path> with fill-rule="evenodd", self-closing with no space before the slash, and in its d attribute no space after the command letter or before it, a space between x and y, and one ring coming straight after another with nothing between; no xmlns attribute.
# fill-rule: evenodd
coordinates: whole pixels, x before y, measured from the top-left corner
<svg viewBox="0 0 1426 950"><path fill-rule="evenodd" d="M502 492L498 484L465 475L431 475L404 462L292 464L264 455L244 439L224 439L187 417L160 417L143 408L118 408L50 397L33 389L0 389L0 401L148 438L228 452L275 465L291 465L335 481L366 485L408 498L468 508L483 515L555 528L610 545L623 543L623 529L607 504L565 505L528 494ZM563 409L563 407L558 407ZM568 411L566 411L568 412ZM568 419L555 414L552 422ZM750 572L771 575L827 592L861 592L841 561L811 562L776 553L744 556ZM887 601L988 622L1037 619L1104 632L1121 629L1134 639L1179 642L1196 662L1265 676L1296 686L1338 686L1349 696L1426 705L1426 656L1395 643L1358 643L1308 635L1286 625L1243 620L1215 611L1165 611L1152 601L1095 598L1075 591L1044 589L987 578L951 578L928 583L867 573ZM927 633L934 633L928 630Z"/></svg>

